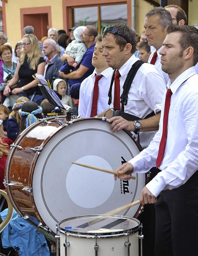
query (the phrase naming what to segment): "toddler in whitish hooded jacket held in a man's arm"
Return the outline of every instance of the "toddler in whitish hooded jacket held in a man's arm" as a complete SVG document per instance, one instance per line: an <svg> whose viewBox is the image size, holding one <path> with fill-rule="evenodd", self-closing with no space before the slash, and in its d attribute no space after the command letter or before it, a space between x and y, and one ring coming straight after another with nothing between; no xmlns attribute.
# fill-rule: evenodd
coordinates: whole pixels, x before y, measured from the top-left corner
<svg viewBox="0 0 198 256"><path fill-rule="evenodd" d="M83 32L84 28L84 26L80 26L74 30L75 40L71 41L71 43L69 43L65 49L65 53L69 54L72 58L74 58L75 63L70 66L66 61L60 68L60 71L64 74L68 74L70 73L70 70L76 68L80 64L83 55L87 51L87 47L85 46L84 42L82 42L80 37L80 34Z"/></svg>

